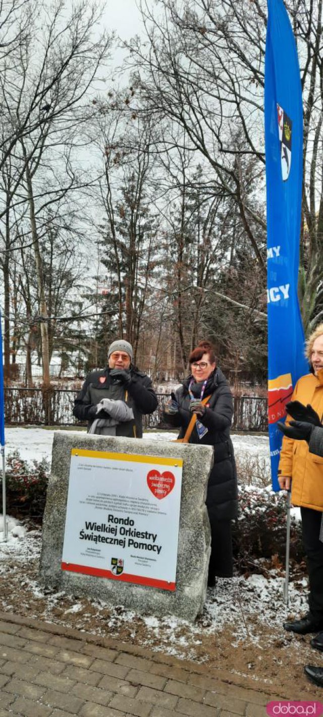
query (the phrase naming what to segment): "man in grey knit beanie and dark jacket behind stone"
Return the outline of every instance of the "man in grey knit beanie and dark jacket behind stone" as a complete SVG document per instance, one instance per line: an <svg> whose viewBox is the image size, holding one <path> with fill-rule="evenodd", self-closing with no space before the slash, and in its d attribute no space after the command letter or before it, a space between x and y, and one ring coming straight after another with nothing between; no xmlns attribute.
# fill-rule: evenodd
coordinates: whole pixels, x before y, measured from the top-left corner
<svg viewBox="0 0 323 717"><path fill-rule="evenodd" d="M97 435L142 437L142 415L158 405L149 376L132 366L131 343L120 338L108 348L108 367L92 371L75 399L73 414Z"/></svg>

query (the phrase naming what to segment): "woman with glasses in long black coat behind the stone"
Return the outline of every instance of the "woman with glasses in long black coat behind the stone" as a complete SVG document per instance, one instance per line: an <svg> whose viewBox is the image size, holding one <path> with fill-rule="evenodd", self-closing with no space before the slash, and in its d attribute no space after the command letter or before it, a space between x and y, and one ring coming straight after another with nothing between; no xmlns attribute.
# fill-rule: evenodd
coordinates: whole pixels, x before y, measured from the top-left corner
<svg viewBox="0 0 323 717"><path fill-rule="evenodd" d="M179 438L183 438L192 414L196 414L189 443L214 447L206 500L211 527L207 584L214 586L216 576L233 576L231 521L238 515L237 474L230 440L233 397L228 381L217 367L210 341L200 341L189 355L189 365L191 373L167 402L164 419L173 427L180 427Z"/></svg>

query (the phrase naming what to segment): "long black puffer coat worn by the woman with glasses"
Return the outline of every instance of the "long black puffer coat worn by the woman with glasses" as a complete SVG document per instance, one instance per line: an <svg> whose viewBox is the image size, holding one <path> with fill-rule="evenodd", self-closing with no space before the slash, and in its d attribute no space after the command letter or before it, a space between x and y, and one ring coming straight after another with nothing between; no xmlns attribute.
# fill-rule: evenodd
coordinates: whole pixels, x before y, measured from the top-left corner
<svg viewBox="0 0 323 717"><path fill-rule="evenodd" d="M164 414L165 422L180 426L179 438L183 438L192 413L189 411L189 376L183 385L175 391L179 412ZM193 384L192 393L200 398L201 384ZM204 397L210 396L205 415L198 417L207 428L207 434L201 439L194 428L189 443L212 445L214 447L214 465L207 486L207 511L216 521L230 521L238 515L238 486L230 440L230 425L233 416L233 397L228 381L220 369L215 369L207 381Z"/></svg>

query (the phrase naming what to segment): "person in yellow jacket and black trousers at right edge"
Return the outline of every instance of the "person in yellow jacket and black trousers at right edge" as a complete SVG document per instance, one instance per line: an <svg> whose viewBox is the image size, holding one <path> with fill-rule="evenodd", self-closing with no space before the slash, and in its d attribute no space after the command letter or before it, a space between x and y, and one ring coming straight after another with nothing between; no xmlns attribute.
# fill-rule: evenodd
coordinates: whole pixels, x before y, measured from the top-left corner
<svg viewBox="0 0 323 717"><path fill-rule="evenodd" d="M317 326L306 344L311 373L301 376L292 396L296 403L292 418L320 425L323 417L323 323ZM300 405L301 404L301 405ZM307 407L307 409L306 409ZM289 405L287 405L287 410ZM306 418L304 412L306 412ZM286 424L289 424L289 416ZM294 622L285 622L286 630L306 635L323 630L323 543L319 531L323 512L323 458L309 452L304 440L284 436L278 482L282 490L291 488L291 502L301 507L301 526L309 571L309 612ZM315 641L312 640L312 643ZM319 650L322 646L313 645Z"/></svg>

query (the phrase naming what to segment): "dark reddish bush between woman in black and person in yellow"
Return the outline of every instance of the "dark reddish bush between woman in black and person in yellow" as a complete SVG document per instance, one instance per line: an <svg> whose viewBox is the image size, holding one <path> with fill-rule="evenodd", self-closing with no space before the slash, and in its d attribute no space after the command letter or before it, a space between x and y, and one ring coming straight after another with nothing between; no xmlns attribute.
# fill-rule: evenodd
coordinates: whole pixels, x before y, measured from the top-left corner
<svg viewBox="0 0 323 717"><path fill-rule="evenodd" d="M240 487L239 518L233 526L233 551L240 572L250 570L254 561L268 559L285 564L286 493L270 489ZM290 559L304 559L301 523L291 516ZM254 570L253 570L254 572Z"/></svg>

